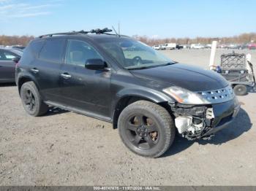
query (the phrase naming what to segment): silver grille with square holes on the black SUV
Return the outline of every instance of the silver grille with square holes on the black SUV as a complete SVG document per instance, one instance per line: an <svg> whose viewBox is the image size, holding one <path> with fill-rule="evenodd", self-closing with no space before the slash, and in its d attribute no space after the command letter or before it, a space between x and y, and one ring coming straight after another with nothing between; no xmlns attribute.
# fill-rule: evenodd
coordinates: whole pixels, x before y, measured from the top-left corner
<svg viewBox="0 0 256 191"><path fill-rule="evenodd" d="M222 89L217 90L208 90L208 91L201 91L197 92L211 104L218 104L225 101L230 101L234 98L234 93L232 87L227 86Z"/></svg>

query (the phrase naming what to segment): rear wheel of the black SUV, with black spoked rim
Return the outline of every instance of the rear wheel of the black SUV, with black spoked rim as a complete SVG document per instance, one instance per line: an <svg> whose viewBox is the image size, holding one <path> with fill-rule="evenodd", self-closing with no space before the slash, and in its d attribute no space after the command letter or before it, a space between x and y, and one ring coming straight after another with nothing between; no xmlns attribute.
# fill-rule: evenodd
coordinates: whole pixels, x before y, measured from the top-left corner
<svg viewBox="0 0 256 191"><path fill-rule="evenodd" d="M26 82L20 88L20 98L25 111L34 116L41 116L48 111L34 82Z"/></svg>

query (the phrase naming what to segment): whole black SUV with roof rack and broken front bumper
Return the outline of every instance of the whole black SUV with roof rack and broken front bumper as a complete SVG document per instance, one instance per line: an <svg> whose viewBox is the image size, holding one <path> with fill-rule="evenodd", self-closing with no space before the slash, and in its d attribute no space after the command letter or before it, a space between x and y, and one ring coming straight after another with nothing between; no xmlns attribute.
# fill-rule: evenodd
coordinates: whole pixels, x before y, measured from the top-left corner
<svg viewBox="0 0 256 191"><path fill-rule="evenodd" d="M113 123L138 155L159 157L176 135L210 139L239 104L214 71L171 61L109 30L48 34L32 40L16 68L26 112L56 106Z"/></svg>

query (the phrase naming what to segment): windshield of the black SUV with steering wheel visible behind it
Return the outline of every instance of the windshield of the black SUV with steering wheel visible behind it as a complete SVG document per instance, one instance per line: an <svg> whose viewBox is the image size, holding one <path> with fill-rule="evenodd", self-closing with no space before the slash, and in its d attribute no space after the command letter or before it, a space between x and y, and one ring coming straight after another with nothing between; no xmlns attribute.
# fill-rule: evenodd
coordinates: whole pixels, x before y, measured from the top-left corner
<svg viewBox="0 0 256 191"><path fill-rule="evenodd" d="M125 69L146 69L174 63L148 45L132 39L101 39L99 44Z"/></svg>

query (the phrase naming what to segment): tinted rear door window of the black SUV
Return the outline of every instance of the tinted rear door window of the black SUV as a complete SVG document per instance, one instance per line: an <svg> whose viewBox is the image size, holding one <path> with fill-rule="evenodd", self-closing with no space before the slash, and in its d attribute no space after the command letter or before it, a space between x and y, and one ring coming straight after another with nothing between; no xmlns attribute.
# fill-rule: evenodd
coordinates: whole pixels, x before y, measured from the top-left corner
<svg viewBox="0 0 256 191"><path fill-rule="evenodd" d="M59 63L61 61L64 42L64 39L46 40L41 52L39 53L39 58L46 61Z"/></svg>

